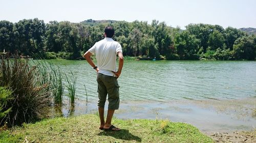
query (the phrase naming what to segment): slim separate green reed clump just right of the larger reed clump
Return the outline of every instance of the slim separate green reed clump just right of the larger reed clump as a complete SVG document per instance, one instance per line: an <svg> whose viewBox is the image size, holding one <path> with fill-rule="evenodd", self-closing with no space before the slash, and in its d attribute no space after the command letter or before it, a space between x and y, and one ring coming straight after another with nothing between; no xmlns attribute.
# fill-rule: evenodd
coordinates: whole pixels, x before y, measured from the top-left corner
<svg viewBox="0 0 256 143"><path fill-rule="evenodd" d="M76 95L76 77L74 76L72 71L70 71L70 72L71 72L71 77L68 77L67 74L65 74L66 75L66 80L68 82L68 85L66 85L66 86L67 86L68 91L69 91L69 94L68 94L68 96L70 98L69 101L72 105L74 105L75 95Z"/></svg>

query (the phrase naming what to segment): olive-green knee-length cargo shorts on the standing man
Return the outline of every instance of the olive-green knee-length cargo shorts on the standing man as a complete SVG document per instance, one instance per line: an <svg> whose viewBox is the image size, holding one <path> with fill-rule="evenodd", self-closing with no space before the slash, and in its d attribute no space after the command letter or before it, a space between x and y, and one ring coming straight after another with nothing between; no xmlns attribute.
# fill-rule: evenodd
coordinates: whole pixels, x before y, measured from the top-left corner
<svg viewBox="0 0 256 143"><path fill-rule="evenodd" d="M97 75L98 82L98 107L104 108L106 95L108 94L109 109L116 110L119 108L119 85L117 78L101 73Z"/></svg>

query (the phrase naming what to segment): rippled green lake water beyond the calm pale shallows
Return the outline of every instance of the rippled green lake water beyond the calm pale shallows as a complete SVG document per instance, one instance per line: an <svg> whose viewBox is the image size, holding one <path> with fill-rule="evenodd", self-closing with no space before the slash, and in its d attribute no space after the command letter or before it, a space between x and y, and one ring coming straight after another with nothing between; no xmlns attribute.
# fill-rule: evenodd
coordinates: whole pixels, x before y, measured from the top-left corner
<svg viewBox="0 0 256 143"><path fill-rule="evenodd" d="M77 77L77 96L97 100L96 72L86 61L52 60ZM256 96L254 61L124 61L118 79L122 101L241 99ZM66 92L67 93L67 92Z"/></svg>

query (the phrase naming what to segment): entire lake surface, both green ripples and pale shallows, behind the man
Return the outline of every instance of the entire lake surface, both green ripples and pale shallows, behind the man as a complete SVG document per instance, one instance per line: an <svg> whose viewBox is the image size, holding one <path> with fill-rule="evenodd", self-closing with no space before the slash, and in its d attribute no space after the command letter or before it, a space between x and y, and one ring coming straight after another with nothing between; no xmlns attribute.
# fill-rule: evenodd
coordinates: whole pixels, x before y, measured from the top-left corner
<svg viewBox="0 0 256 143"><path fill-rule="evenodd" d="M95 70L86 61L52 60L52 63L77 77L79 100L75 115L96 111ZM117 118L169 119L193 124L204 131L256 126L255 118L250 116L256 109L254 61L124 61L118 82L121 103L115 114ZM89 102L85 102L83 84ZM232 111L227 113L230 109L219 112L215 106L240 100L245 102L236 103L237 107L249 106L244 118L237 118L237 113ZM247 103L248 100L251 102ZM68 108L63 112L67 113Z"/></svg>

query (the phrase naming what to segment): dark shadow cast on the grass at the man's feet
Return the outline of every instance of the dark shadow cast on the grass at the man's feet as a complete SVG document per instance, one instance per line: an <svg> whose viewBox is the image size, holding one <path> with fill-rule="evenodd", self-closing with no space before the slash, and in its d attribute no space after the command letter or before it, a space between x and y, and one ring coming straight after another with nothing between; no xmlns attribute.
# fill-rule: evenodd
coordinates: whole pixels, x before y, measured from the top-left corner
<svg viewBox="0 0 256 143"><path fill-rule="evenodd" d="M98 133L98 135L113 136L117 139L136 140L141 142L140 137L131 134L129 130L125 130L125 129L121 129L120 131L102 131Z"/></svg>

